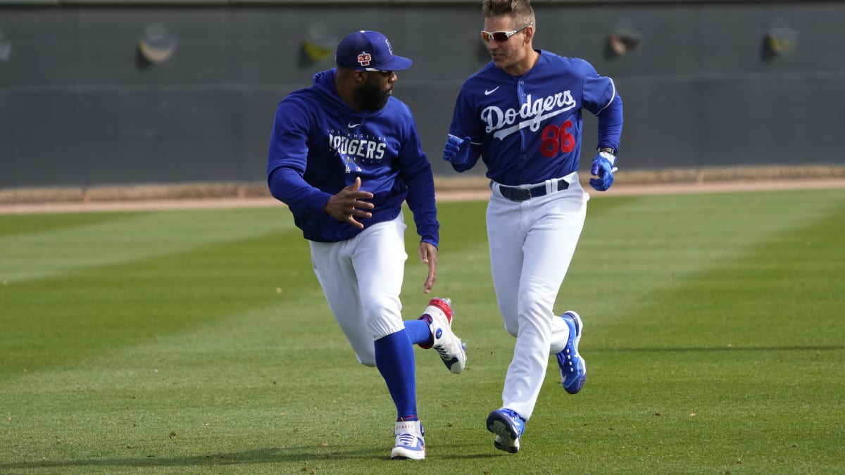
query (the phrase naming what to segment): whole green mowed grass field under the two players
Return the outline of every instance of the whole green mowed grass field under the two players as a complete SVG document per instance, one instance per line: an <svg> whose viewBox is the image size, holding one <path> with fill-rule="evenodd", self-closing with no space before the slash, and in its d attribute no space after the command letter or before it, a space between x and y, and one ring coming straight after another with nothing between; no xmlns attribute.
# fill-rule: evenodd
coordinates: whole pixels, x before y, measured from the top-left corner
<svg viewBox="0 0 845 475"><path fill-rule="evenodd" d="M0 473L845 473L845 189L593 195L556 306L590 377L549 365L516 455L486 203L439 204L469 362L416 350L418 462L281 205L0 216Z"/></svg>

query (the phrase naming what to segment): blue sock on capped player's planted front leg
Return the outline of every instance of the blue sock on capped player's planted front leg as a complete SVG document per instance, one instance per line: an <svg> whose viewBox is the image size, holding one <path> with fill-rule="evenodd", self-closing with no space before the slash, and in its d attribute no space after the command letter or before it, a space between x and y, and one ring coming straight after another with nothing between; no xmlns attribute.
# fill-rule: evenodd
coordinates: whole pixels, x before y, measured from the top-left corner
<svg viewBox="0 0 845 475"><path fill-rule="evenodd" d="M375 341L375 365L393 398L396 420L419 420L414 347L406 330L397 331Z"/></svg>

